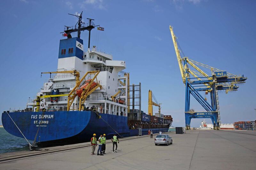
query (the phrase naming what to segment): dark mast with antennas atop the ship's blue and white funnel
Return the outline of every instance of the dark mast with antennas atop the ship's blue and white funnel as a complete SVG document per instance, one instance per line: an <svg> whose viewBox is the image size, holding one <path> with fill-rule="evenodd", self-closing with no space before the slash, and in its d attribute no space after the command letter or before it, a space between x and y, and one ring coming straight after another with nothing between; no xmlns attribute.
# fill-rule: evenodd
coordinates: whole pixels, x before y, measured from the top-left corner
<svg viewBox="0 0 256 170"><path fill-rule="evenodd" d="M67 34L68 38L72 38L71 33L77 32L77 38L80 38L81 31L88 30L89 31L88 49L90 49L91 30L95 28L95 24L93 23L94 19L87 18L89 22L84 23L82 21L82 14L83 14L83 11L81 12L81 14L79 13L77 13L76 15L69 14L69 15L76 16L78 18L78 21L75 26L65 26L64 32Z"/></svg>

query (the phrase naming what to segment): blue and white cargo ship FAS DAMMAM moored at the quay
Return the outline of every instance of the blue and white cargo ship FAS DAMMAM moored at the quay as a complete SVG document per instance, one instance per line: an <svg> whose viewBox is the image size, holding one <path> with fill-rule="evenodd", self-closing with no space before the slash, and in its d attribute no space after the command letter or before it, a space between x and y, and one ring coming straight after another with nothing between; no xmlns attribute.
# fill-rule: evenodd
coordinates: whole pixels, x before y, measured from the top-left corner
<svg viewBox="0 0 256 170"><path fill-rule="evenodd" d="M130 85L130 74L123 71L125 61L113 60L111 54L96 46L90 48L92 29L104 28L95 26L90 18L88 23L82 22L82 13L75 15L75 26L65 26L62 32L57 70L41 73L41 77L49 74L50 78L34 98L28 99L26 107L4 111L4 129L42 144L86 142L94 133L105 133L110 138L113 134L145 135L149 129L167 132L172 125L171 115L163 118L134 109L137 104L134 95L130 96L136 89ZM80 38L85 30L89 31L88 48ZM128 115L133 116L128 120Z"/></svg>

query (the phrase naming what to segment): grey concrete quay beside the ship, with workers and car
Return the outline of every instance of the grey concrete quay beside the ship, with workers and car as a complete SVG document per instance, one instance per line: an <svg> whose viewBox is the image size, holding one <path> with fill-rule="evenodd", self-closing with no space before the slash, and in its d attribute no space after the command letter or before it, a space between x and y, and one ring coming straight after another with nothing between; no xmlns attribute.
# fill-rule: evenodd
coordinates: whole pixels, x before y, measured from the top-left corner
<svg viewBox="0 0 256 170"><path fill-rule="evenodd" d="M169 146L149 136L120 139L117 153L91 155L89 143L0 154L0 169L255 169L256 131L187 130L168 133ZM156 135L154 135L155 137ZM96 148L98 149L98 147ZM97 150L96 150L97 151ZM96 153L96 152L95 152Z"/></svg>

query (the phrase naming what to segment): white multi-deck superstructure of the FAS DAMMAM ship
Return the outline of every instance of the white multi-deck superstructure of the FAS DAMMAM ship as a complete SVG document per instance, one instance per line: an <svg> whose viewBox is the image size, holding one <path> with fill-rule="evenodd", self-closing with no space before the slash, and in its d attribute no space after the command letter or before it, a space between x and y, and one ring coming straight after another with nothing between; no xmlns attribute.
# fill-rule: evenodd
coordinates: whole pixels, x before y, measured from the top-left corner
<svg viewBox="0 0 256 170"><path fill-rule="evenodd" d="M77 42L77 41L76 41ZM77 43L76 43L77 45ZM77 47L76 47L77 48ZM83 48L80 48L83 50ZM61 49L60 49L61 50ZM77 56L69 56L58 58L57 71L77 70L80 73L80 78L87 71L99 70L97 80L102 89L98 88L87 97L84 105L85 108L96 107L101 109L100 112L114 115L127 116L127 89L129 82L129 73L123 72L125 67L124 61L113 60L112 55L106 54L97 50L95 46L83 52L83 57L80 59ZM90 75L85 80L91 79ZM68 94L76 85L76 77L70 73L57 73L52 78L44 83L37 96L51 95L52 91L58 94ZM121 91L115 100L111 96ZM42 98L40 101L40 109L46 108L47 110L67 110L68 96L60 96L58 100L51 101L51 98ZM35 100L35 99L34 99ZM124 101L119 102L120 100ZM72 103L70 109L77 109L79 105L78 96ZM28 101L27 107L35 106L35 101L32 99Z"/></svg>

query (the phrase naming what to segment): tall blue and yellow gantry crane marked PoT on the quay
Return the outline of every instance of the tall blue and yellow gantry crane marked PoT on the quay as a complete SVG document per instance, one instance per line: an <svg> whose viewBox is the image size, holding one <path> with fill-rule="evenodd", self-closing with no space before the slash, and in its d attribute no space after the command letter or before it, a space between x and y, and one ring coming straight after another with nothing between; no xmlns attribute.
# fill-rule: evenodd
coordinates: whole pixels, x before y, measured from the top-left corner
<svg viewBox="0 0 256 170"><path fill-rule="evenodd" d="M172 41L175 48L178 64L180 67L180 74L183 83L186 87L185 94L185 122L186 129L190 129L190 122L192 118L211 118L213 129L220 129L220 107L218 91L225 90L237 91L238 85L245 83L247 79L244 75L234 75L223 70L216 69L209 65L196 62L188 59L182 52L177 37L173 33L173 28L170 26ZM181 58L181 53L184 55ZM183 63L183 64L182 64ZM190 66L189 66L190 65ZM191 67L192 66L192 67ZM207 68L211 71L211 75L206 74L202 69ZM190 77L191 76L191 77ZM205 97L202 95L205 92ZM206 95L210 93L211 102L207 102ZM204 108L205 111L195 111L190 109L190 95L192 95L197 102Z"/></svg>

